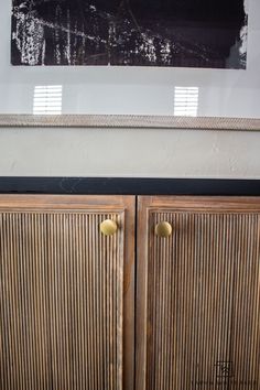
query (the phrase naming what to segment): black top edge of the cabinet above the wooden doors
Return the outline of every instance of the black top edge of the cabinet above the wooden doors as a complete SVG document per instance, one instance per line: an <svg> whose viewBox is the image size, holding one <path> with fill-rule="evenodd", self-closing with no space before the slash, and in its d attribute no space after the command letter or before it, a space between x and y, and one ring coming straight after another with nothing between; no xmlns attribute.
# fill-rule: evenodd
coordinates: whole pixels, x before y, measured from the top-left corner
<svg viewBox="0 0 260 390"><path fill-rule="evenodd" d="M260 180L3 176L0 193L260 196Z"/></svg>

